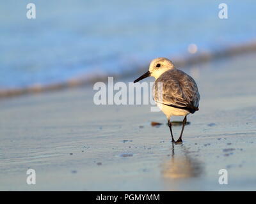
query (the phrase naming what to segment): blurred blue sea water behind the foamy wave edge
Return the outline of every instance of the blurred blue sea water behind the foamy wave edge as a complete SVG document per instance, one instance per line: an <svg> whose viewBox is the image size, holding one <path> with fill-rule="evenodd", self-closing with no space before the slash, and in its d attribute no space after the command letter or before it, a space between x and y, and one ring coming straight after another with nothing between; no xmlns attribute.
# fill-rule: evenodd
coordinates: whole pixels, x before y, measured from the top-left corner
<svg viewBox="0 0 256 204"><path fill-rule="evenodd" d="M26 5L36 4L36 19ZM228 19L218 5L228 4ZM255 0L52 0L0 3L0 89L122 73L256 37Z"/></svg>

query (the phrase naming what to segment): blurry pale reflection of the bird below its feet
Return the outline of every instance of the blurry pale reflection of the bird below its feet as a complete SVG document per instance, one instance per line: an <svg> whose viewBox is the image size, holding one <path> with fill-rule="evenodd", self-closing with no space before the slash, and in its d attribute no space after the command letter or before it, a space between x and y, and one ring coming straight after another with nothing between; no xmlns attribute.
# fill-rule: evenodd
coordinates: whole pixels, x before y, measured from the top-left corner
<svg viewBox="0 0 256 204"><path fill-rule="evenodd" d="M163 164L162 173L164 178L169 179L199 177L203 173L203 166L198 159L189 156L184 145L172 144L172 158Z"/></svg>

